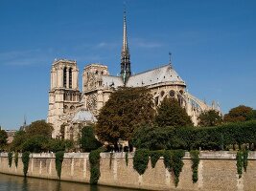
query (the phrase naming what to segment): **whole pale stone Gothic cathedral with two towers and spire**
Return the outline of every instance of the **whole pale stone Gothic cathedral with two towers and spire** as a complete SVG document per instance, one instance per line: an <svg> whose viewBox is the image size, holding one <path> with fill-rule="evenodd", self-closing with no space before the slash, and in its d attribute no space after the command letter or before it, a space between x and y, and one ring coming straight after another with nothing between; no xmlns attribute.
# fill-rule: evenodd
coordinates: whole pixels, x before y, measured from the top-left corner
<svg viewBox="0 0 256 191"><path fill-rule="evenodd" d="M53 138L77 139L81 127L95 123L111 93L122 86L149 88L155 106L166 96L175 97L195 125L198 125L201 112L211 109L220 111L215 103L209 106L188 93L186 83L175 72L171 61L140 74L131 74L126 12L123 28L119 76L110 75L105 65L91 63L83 68L80 91L77 62L67 59L56 59L53 62L47 117L47 122L54 126Z"/></svg>

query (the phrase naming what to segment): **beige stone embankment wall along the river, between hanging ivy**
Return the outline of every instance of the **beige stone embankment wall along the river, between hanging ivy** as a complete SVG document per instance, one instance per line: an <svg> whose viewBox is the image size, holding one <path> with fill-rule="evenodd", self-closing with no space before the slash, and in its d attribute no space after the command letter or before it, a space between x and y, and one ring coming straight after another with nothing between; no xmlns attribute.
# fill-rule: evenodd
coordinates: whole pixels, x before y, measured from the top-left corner
<svg viewBox="0 0 256 191"><path fill-rule="evenodd" d="M198 182L192 180L192 160L189 153L182 159L184 166L175 187L173 175L165 168L163 159L159 159L154 168L149 161L143 175L133 169L133 154L128 155L128 165L125 153L101 154L101 177L98 184L140 188L146 190L224 190L224 191L255 191L256 190L256 152L249 152L246 173L239 179L237 174L236 152L200 152L198 165ZM62 162L60 180L89 183L90 164L88 153L65 153ZM15 167L14 158L9 166L7 153L0 154L0 173L23 176L23 163L19 155ZM31 154L28 177L58 180L55 155Z"/></svg>

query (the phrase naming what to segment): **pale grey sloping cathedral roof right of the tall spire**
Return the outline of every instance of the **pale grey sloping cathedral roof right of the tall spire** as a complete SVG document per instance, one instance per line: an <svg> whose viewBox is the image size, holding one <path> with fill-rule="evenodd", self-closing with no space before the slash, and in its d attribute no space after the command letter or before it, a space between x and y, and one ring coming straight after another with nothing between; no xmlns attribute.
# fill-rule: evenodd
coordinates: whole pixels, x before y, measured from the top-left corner
<svg viewBox="0 0 256 191"><path fill-rule="evenodd" d="M182 78L175 72L173 67L168 64L144 73L131 75L128 78L127 86L141 87L165 82L186 85Z"/></svg>

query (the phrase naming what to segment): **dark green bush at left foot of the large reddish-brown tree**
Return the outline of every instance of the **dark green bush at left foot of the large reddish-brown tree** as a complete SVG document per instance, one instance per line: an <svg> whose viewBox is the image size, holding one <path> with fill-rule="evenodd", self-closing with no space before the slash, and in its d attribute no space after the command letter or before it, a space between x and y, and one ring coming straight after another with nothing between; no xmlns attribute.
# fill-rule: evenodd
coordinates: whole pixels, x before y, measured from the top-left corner
<svg viewBox="0 0 256 191"><path fill-rule="evenodd" d="M81 148L84 152L96 150L102 146L102 143L95 138L92 126L85 126L81 129Z"/></svg>

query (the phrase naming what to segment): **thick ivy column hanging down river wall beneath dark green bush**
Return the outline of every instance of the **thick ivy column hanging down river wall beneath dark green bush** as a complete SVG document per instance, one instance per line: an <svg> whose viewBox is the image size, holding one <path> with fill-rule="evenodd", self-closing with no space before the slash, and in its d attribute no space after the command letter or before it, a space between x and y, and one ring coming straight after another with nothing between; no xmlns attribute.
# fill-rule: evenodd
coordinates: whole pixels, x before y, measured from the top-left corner
<svg viewBox="0 0 256 191"><path fill-rule="evenodd" d="M90 152L89 155L89 162L90 162L90 184L97 184L98 180L101 177L100 171L100 160L101 160L101 152L103 150L101 148L97 150L93 150Z"/></svg>

